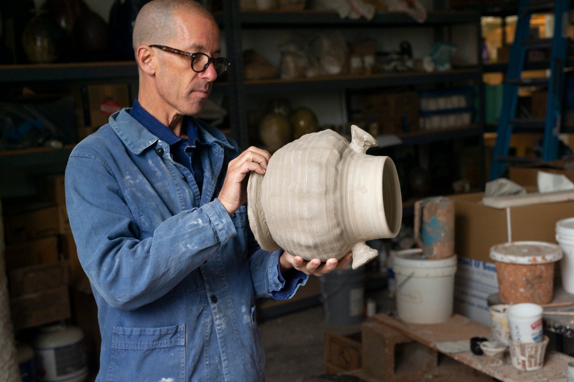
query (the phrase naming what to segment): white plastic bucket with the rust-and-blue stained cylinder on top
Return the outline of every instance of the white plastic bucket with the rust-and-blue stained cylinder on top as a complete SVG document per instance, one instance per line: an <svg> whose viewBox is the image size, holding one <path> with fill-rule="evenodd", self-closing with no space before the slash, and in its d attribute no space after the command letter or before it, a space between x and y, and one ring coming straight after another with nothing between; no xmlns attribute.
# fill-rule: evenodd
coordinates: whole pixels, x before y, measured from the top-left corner
<svg viewBox="0 0 574 382"><path fill-rule="evenodd" d="M441 323L452 317L456 256L430 260L421 249L392 252L397 313L405 322Z"/></svg>

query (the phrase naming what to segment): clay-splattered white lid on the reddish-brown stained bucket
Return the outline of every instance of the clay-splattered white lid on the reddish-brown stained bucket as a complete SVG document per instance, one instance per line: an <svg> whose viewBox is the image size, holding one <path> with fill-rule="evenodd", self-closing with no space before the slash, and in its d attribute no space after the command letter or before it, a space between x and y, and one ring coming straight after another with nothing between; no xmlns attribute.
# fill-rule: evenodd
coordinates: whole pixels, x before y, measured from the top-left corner
<svg viewBox="0 0 574 382"><path fill-rule="evenodd" d="M546 264L560 260L562 250L544 241L513 241L491 247L490 258L501 263Z"/></svg>

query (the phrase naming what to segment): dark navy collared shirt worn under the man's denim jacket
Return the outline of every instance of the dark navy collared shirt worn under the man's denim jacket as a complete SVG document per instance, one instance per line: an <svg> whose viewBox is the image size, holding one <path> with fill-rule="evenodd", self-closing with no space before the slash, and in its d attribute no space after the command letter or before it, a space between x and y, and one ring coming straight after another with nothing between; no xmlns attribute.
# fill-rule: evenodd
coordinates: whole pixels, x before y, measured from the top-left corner
<svg viewBox="0 0 574 382"><path fill-rule="evenodd" d="M205 154L203 142L197 135L197 127L193 123L193 118L184 116L181 128L186 132L187 139L178 137L169 127L158 121L153 115L149 114L141 104L138 98L134 100L134 106L130 110L130 115L139 123L147 128L153 135L169 145L173 160L187 167L193 175L197 188L201 191L203 188L203 167L201 167L201 155Z"/></svg>

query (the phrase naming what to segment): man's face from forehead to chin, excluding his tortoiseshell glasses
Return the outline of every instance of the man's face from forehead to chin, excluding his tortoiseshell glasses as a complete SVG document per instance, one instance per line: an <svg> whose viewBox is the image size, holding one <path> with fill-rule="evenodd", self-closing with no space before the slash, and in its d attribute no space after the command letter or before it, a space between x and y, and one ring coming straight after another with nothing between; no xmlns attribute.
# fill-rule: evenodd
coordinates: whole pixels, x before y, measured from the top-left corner
<svg viewBox="0 0 574 382"><path fill-rule="evenodd" d="M174 20L177 36L166 45L189 53L219 56L219 28L213 20L181 12L174 14ZM188 57L169 52L157 53L160 64L156 71L156 87L160 96L178 114L199 114L217 78L213 63L204 72L197 73L191 68Z"/></svg>

